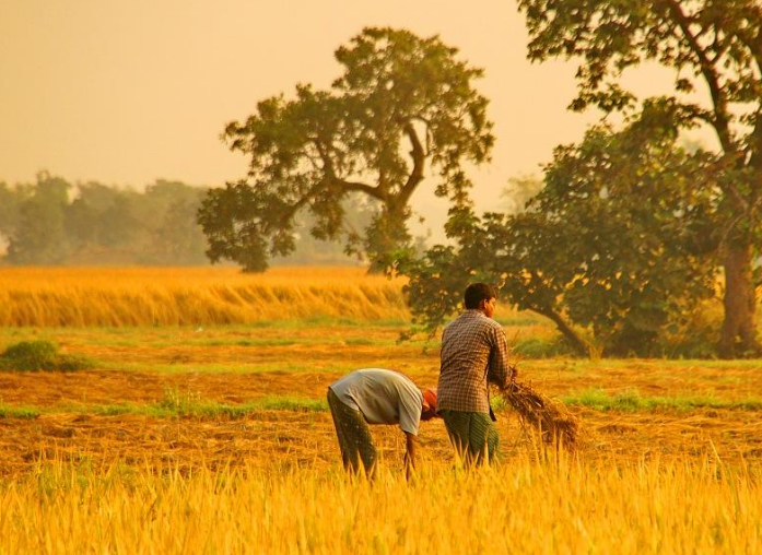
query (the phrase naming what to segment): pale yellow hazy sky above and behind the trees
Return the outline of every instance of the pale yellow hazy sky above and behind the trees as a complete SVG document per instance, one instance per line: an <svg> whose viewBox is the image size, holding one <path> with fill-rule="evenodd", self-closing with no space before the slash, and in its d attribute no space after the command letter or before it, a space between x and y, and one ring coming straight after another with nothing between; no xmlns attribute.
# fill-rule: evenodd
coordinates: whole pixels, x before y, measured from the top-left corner
<svg viewBox="0 0 762 555"><path fill-rule="evenodd" d="M333 50L367 25L439 34L484 68L497 142L473 175L481 209L596 119L565 109L573 64L526 60L513 0L0 0L0 180L44 168L136 187L239 178L246 158L220 141L224 125L298 82L327 87ZM655 70L632 79L644 93L670 84ZM431 194L414 202L442 212Z"/></svg>

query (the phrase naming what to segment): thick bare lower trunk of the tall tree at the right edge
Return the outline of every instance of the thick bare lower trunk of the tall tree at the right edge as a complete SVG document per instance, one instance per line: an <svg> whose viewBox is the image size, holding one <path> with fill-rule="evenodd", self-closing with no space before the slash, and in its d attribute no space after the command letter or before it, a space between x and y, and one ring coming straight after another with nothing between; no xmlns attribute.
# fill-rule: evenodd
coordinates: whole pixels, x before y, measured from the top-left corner
<svg viewBox="0 0 762 555"><path fill-rule="evenodd" d="M758 356L757 295L752 278L751 243L728 245L723 255L725 270L725 319L717 352L722 358Z"/></svg>

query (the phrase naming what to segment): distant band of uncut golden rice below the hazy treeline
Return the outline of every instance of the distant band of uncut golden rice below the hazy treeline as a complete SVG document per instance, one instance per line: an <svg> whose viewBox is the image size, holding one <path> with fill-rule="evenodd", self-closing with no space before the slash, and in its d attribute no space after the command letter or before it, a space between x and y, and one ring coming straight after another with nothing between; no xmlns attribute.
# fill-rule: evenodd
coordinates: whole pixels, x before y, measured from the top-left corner
<svg viewBox="0 0 762 555"><path fill-rule="evenodd" d="M3 268L0 326L408 319L401 285L361 268Z"/></svg>

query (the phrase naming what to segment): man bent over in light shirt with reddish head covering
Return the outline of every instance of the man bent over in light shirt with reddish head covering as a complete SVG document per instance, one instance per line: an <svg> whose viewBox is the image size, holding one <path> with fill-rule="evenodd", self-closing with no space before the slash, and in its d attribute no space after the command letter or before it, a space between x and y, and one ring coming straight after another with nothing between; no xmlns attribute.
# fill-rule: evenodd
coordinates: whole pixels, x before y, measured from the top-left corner
<svg viewBox="0 0 762 555"><path fill-rule="evenodd" d="M405 433L405 471L415 469L419 424L436 416L436 390L421 391L407 376L380 368L355 370L328 387L328 406L341 459L352 474L376 470L376 446L368 424L398 424Z"/></svg>

